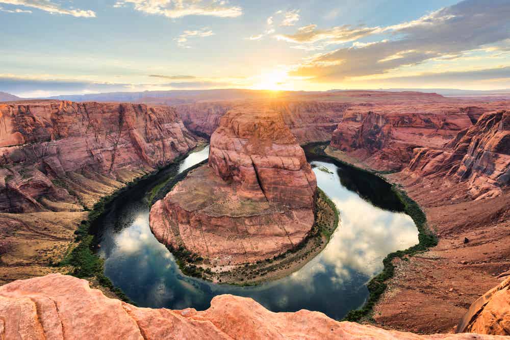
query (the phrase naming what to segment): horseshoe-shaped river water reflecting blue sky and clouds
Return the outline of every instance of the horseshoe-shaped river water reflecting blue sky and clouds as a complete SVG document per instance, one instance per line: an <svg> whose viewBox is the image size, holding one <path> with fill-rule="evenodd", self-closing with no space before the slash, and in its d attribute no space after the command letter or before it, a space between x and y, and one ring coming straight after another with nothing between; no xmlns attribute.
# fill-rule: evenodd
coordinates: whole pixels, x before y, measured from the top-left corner
<svg viewBox="0 0 510 340"><path fill-rule="evenodd" d="M178 171L207 159L208 154L208 148L192 153ZM213 296L234 294L251 297L273 311L305 308L342 318L364 303L365 284L382 269L382 258L418 242L417 230L409 216L382 210L344 187L340 179L346 172L335 164L322 160L312 165L319 187L339 208L341 223L326 248L290 276L254 287L217 285L184 276L172 254L150 232L148 207L139 194L122 197L101 220L99 253L106 260L105 274L140 306L206 309ZM356 178L348 181L356 182ZM139 190L147 192L150 186Z"/></svg>

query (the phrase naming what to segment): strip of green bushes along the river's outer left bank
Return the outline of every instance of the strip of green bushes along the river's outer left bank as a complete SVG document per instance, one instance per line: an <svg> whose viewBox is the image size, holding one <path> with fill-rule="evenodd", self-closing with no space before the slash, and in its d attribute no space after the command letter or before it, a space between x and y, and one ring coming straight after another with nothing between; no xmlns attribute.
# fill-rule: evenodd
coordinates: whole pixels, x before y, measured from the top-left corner
<svg viewBox="0 0 510 340"><path fill-rule="evenodd" d="M96 222L98 219L108 212L111 203L126 194L137 186L144 186L148 182L154 181L162 172L170 167L178 165L189 153L177 157L168 165L154 171L147 173L141 177L127 182L125 186L116 190L109 196L103 196L97 203L94 204L92 210L89 212L87 219L81 221L78 229L74 232L76 237L74 242L78 243L77 246L72 248L60 263L56 264L57 267L71 267L68 275L79 278L86 278L92 283L98 284L100 287L105 288L116 295L120 300L133 304L133 301L127 297L122 290L116 287L112 281L104 274L104 260L95 254L94 250L97 249L97 240L94 237L95 229L99 228Z"/></svg>

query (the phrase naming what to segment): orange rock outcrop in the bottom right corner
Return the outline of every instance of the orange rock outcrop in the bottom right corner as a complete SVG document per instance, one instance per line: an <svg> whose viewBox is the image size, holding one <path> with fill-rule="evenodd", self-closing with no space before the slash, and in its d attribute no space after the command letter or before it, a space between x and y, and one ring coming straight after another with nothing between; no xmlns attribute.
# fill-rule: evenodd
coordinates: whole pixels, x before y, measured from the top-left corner
<svg viewBox="0 0 510 340"><path fill-rule="evenodd" d="M457 333L510 335L510 279L473 302L457 326Z"/></svg>

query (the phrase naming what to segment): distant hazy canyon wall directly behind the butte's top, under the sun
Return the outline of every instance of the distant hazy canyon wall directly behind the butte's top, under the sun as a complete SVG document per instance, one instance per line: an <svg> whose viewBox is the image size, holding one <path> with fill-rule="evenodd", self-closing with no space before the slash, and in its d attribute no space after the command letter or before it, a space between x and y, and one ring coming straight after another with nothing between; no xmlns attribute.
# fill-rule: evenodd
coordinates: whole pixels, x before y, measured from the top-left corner
<svg viewBox="0 0 510 340"><path fill-rule="evenodd" d="M235 107L246 105L265 107L282 115L285 124L299 144L323 142L342 121L344 111L350 106L343 102L259 100L201 102L176 106L175 109L191 131L211 136L219 126L221 116Z"/></svg>

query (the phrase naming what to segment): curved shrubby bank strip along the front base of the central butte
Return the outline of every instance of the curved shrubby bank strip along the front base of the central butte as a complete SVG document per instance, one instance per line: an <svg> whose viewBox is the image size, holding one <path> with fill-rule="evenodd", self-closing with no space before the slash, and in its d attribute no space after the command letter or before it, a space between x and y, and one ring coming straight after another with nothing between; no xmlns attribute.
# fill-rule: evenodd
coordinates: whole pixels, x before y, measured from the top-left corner
<svg viewBox="0 0 510 340"><path fill-rule="evenodd" d="M170 190L171 187L173 185L169 184ZM220 284L256 285L290 275L302 268L326 247L331 235L338 227L340 217L335 203L320 189L317 189L315 195L314 214L315 222L304 240L285 253L256 263L213 268L208 259L202 258L184 247L169 248L169 250L185 275Z"/></svg>

